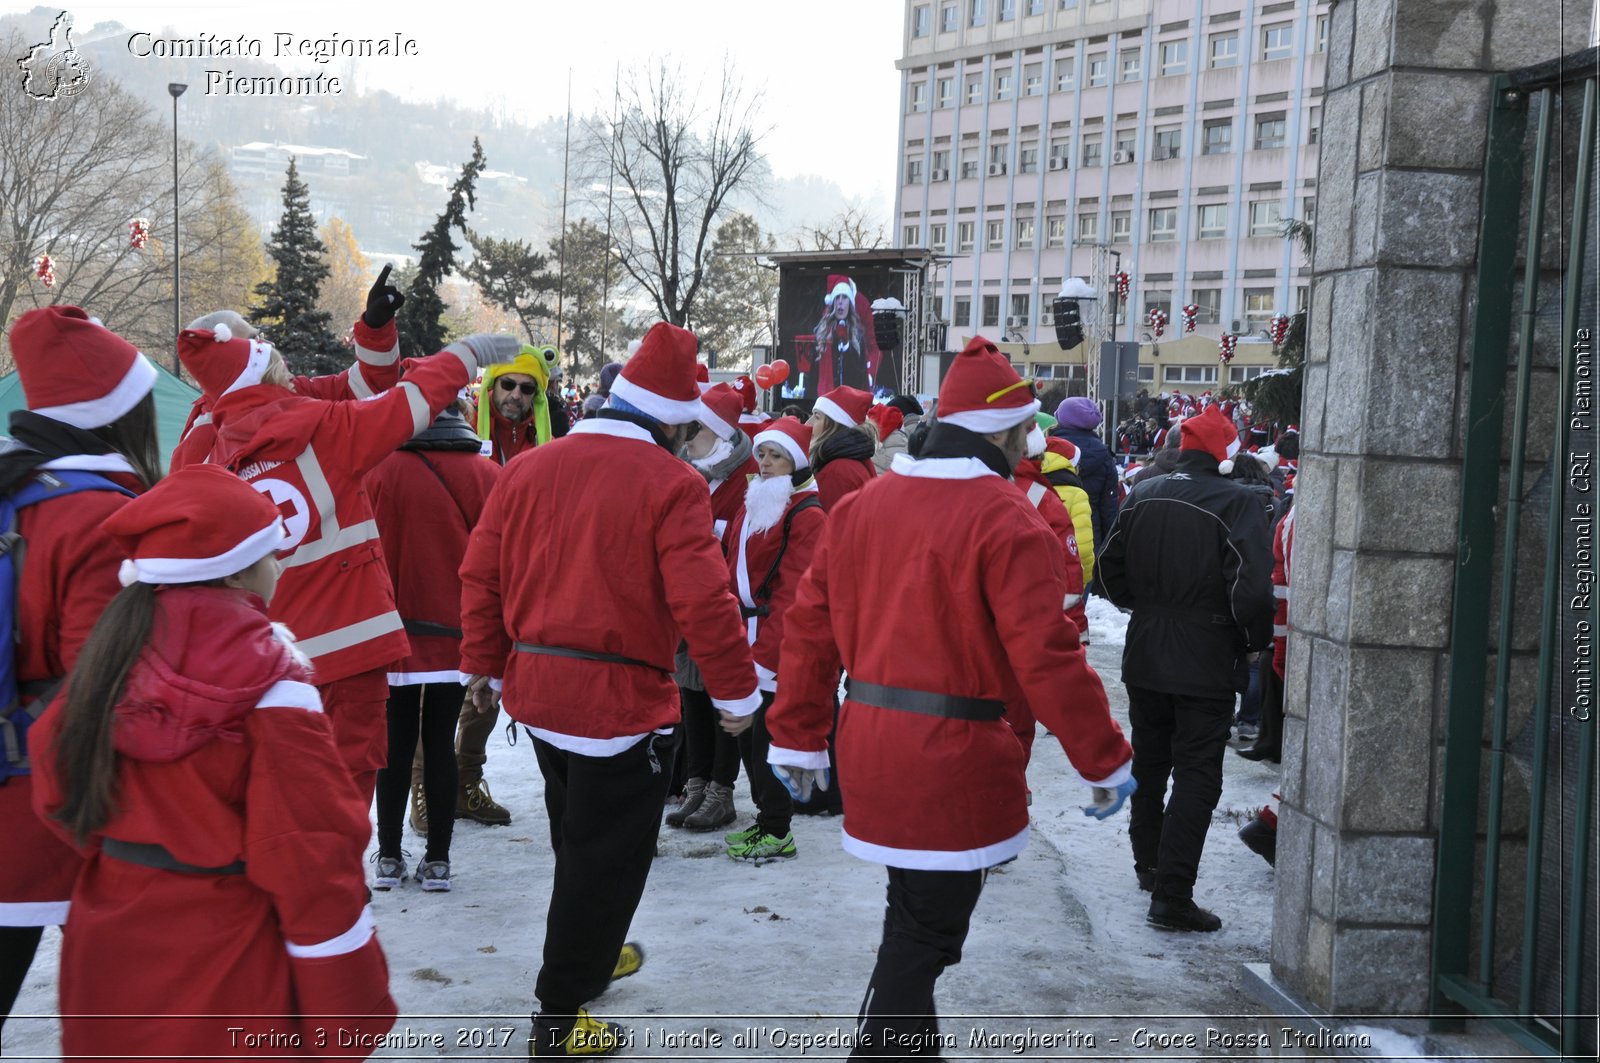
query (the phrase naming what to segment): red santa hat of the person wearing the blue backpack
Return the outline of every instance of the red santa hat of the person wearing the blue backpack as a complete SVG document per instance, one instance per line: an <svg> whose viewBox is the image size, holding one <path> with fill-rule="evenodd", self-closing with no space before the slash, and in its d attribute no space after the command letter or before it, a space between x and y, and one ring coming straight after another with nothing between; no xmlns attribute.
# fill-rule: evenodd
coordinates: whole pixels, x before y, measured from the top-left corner
<svg viewBox="0 0 1600 1063"><path fill-rule="evenodd" d="M155 365L75 306L42 306L11 325L27 408L72 427L106 427L155 387Z"/></svg>

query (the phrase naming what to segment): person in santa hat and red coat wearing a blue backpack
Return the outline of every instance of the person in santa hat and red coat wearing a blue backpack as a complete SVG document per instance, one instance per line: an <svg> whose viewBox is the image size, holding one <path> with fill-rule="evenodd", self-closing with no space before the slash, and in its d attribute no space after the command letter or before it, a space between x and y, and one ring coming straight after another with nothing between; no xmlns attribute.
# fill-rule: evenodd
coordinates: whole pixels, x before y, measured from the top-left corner
<svg viewBox="0 0 1600 1063"><path fill-rule="evenodd" d="M162 475L155 367L75 306L46 306L11 327L27 410L0 443L0 490L50 491L18 511L13 552L14 669L21 704L0 719L0 1025L45 927L67 919L82 860L34 815L32 720L45 709L117 594L118 556L104 522ZM78 490L80 485L93 485Z"/></svg>

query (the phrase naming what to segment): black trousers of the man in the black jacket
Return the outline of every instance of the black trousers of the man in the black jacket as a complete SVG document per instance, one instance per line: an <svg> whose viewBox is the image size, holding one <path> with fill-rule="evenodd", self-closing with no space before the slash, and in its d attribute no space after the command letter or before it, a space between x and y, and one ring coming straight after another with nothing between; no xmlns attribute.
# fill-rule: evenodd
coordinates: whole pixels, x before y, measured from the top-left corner
<svg viewBox="0 0 1600 1063"><path fill-rule="evenodd" d="M1211 813L1222 796L1232 698L1190 698L1128 687L1133 778L1128 839L1133 863L1155 869L1157 900L1194 897ZM1166 796L1171 780L1173 794Z"/></svg>

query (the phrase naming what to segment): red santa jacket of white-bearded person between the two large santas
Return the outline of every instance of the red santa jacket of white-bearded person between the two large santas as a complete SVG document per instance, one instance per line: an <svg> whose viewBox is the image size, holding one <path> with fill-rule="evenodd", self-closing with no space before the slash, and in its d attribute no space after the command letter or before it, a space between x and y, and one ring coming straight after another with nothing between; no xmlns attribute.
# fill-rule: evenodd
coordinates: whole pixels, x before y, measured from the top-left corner
<svg viewBox="0 0 1600 1063"><path fill-rule="evenodd" d="M816 498L814 482L805 490L797 490L789 498L784 515L765 532L750 530L749 514L741 506L722 538L722 548L728 554L730 584L739 605L746 607L746 613L760 605L766 607L765 616L746 620L746 639L755 655L757 685L768 693L778 690L778 655L784 639L784 613L794 605L795 588L800 586L800 576L805 575L811 564L811 554L816 552L816 544L822 538L822 522L826 520L822 507L806 506L795 511L810 498ZM778 551L784 541L784 520L789 520L789 514L794 514L789 525L789 546L784 549L778 573L768 584L771 596L757 602L755 592L766 580L766 573L771 572L773 560L778 560Z"/></svg>

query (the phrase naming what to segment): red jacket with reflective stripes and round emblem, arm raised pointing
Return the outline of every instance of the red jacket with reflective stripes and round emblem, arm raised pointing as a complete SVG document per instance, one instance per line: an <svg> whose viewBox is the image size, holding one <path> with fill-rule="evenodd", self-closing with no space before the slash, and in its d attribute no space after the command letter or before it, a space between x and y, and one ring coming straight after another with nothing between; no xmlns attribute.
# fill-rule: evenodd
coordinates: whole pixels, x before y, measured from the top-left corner
<svg viewBox="0 0 1600 1063"><path fill-rule="evenodd" d="M395 349L395 327L370 330L368 347ZM272 616L288 624L312 660L318 685L382 668L406 655L378 525L362 480L422 431L477 375L469 357L414 359L397 387L368 402L323 402L272 384L218 400L226 464L283 511L288 546Z"/></svg>

